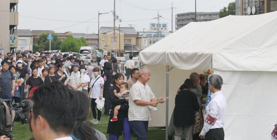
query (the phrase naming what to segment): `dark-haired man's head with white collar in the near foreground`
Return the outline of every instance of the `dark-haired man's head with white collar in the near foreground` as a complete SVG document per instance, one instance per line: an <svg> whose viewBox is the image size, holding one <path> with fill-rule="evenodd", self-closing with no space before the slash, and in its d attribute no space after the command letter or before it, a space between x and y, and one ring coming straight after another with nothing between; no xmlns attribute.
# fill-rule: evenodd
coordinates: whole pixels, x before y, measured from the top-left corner
<svg viewBox="0 0 277 140"><path fill-rule="evenodd" d="M40 86L34 91L31 113L31 130L36 140L72 140L70 133L74 128L76 104L74 92L59 81Z"/></svg>

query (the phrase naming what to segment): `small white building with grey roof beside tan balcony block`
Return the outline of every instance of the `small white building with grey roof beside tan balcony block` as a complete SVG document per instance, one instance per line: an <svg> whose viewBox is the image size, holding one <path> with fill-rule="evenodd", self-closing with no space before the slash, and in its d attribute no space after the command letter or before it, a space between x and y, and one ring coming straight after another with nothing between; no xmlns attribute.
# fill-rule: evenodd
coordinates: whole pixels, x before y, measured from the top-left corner
<svg viewBox="0 0 277 140"><path fill-rule="evenodd" d="M31 38L31 30L17 30L19 51L33 50L33 40Z"/></svg>

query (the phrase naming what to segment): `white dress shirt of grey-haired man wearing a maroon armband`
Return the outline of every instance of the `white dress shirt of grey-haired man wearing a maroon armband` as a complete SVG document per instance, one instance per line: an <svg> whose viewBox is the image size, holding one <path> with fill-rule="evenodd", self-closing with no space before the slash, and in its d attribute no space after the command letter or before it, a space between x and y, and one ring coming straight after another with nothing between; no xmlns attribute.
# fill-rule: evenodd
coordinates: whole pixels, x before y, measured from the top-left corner
<svg viewBox="0 0 277 140"><path fill-rule="evenodd" d="M211 102L207 106L207 116L210 115L216 118L214 125L210 125L204 121L204 126L201 131L201 135L205 136L210 129L223 128L224 127L224 117L226 111L226 100L222 94L222 91L218 91L211 95Z"/></svg>

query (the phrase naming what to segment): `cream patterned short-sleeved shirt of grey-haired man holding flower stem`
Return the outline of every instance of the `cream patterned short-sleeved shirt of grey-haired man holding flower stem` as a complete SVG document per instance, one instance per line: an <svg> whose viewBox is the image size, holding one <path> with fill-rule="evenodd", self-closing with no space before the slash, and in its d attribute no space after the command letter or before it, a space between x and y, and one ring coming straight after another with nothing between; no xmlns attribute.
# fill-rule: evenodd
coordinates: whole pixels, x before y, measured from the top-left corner
<svg viewBox="0 0 277 140"><path fill-rule="evenodd" d="M145 86L137 81L130 89L129 94L129 111L128 118L129 121L132 120L142 120L148 121L152 120L151 118L151 110L146 106L141 106L135 104L135 100L143 100L150 102L151 99L155 98L155 95L151 91L151 88L145 84Z"/></svg>

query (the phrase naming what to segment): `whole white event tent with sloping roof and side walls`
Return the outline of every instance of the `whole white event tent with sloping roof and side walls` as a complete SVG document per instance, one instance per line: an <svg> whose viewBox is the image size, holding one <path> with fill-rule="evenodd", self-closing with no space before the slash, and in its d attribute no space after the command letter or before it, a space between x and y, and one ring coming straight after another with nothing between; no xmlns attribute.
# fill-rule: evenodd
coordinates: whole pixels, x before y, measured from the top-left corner
<svg viewBox="0 0 277 140"><path fill-rule="evenodd" d="M141 51L139 59L151 69L156 97L176 93L191 72L213 68L224 80L225 139L271 138L277 120L277 12L191 22ZM168 101L169 119L174 98ZM160 104L152 111L149 126L165 126L164 110Z"/></svg>

